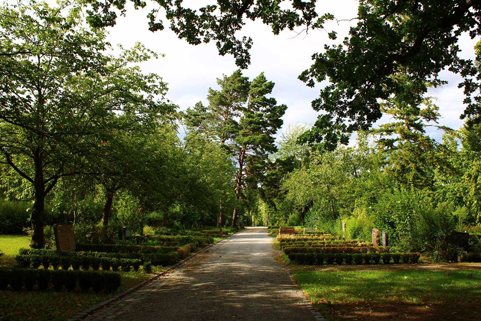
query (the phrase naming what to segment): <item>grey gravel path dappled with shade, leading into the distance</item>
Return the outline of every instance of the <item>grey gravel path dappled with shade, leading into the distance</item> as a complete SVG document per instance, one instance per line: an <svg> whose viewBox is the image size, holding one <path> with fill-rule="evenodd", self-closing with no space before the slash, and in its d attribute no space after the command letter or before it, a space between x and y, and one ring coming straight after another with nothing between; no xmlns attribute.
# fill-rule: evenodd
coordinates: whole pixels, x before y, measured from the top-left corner
<svg viewBox="0 0 481 321"><path fill-rule="evenodd" d="M276 255L265 229L238 232L84 320L316 320Z"/></svg>

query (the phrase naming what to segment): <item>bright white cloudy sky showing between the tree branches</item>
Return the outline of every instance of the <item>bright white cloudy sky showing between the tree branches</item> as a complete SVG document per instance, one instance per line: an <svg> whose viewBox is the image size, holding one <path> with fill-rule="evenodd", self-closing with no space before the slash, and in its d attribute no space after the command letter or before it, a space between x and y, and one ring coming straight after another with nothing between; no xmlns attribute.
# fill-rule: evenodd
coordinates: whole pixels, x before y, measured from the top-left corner
<svg viewBox="0 0 481 321"><path fill-rule="evenodd" d="M202 5L199 0L185 3ZM357 3L353 0L319 0L316 10L320 14L332 13L338 20L352 19L356 17ZM127 16L119 17L117 25L107 29L108 41L114 46L122 44L124 48L129 48L139 41L147 48L165 54L165 57L158 60L143 63L142 70L163 77L169 84L168 98L181 109L187 109L199 101L206 103L209 87L218 88L216 78L222 77L223 74L230 75L238 69L234 59L230 55L220 56L215 43L189 45L185 40L178 39L168 28L152 33L148 30L146 18L150 9L148 7L134 10L131 3L127 3ZM165 23L168 26L168 21ZM309 68L313 53L323 52L324 44L333 43L328 38L328 31L338 32L338 39L341 40L348 34L349 27L355 23L356 20L343 21L339 24L329 22L325 25L325 30L310 31L307 35L301 34L297 37L297 33L291 31L274 36L269 26L261 22L249 22L241 30L239 35L250 36L253 39L252 64L243 73L252 79L264 72L268 80L276 83L272 96L279 104L284 103L289 107L283 117L283 128L295 123L312 124L316 120L317 113L311 108L311 101L318 96L322 84L317 84L316 88L309 88L297 77L303 70ZM468 36L460 39L463 58L474 58L473 46L476 40L471 40ZM457 88L461 78L448 71L442 72L441 75L449 84L431 92L431 95L437 98L437 104L441 109L443 118L440 124L457 129L463 124L459 115L465 108L462 103L464 98L462 90ZM383 117L379 122L387 121L389 118ZM441 133L436 131L430 135L436 139L441 137Z"/></svg>

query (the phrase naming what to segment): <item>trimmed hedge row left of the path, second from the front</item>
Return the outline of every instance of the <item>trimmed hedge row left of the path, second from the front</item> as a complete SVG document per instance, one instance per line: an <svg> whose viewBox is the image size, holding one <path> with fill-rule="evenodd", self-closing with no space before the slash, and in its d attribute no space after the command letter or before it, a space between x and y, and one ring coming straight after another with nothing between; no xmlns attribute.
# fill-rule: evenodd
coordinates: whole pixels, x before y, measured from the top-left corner
<svg viewBox="0 0 481 321"><path fill-rule="evenodd" d="M113 271L118 271L122 269L124 272L132 270L132 268L137 271L142 264L139 259L128 259L128 258L114 258L114 257L61 257L56 255L17 255L15 257L18 265L22 268L34 268L38 269L40 265L43 266L44 270L48 270L50 266L56 270L62 268L62 270L68 270L72 267L73 270L99 270L102 268L103 271L108 271L112 268Z"/></svg>

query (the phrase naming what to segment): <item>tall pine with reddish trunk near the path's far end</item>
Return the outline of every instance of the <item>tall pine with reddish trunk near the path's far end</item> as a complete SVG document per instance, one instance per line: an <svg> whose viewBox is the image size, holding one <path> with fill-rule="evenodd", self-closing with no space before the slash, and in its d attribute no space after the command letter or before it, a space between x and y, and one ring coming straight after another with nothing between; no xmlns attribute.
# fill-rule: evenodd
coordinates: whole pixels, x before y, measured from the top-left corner
<svg viewBox="0 0 481 321"><path fill-rule="evenodd" d="M282 126L286 105L277 105L274 98L266 95L272 92L274 83L267 81L263 73L252 81L243 77L240 70L231 76L218 79L220 90L209 90L209 106L187 111L190 126L196 125L219 142L235 159L235 194L239 200L245 188L245 178L260 174L266 167L269 153L277 147L273 135ZM195 120L201 119L201 122ZM236 226L238 207L234 207L232 226Z"/></svg>

